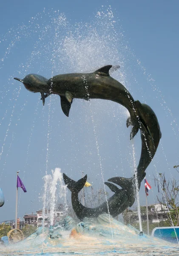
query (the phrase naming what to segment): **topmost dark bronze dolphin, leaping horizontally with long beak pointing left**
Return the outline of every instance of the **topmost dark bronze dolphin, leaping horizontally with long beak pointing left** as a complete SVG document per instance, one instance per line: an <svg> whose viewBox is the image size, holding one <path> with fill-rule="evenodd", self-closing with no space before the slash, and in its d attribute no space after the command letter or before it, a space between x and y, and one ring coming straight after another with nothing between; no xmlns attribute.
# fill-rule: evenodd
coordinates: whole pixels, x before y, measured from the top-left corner
<svg viewBox="0 0 179 256"><path fill-rule="evenodd" d="M119 81L109 75L112 65L99 68L93 73L69 73L53 76L48 81L43 76L29 74L24 79L14 78L21 81L27 90L40 92L43 99L50 94L57 94L61 99L61 108L66 116L74 98L77 99L107 99L117 102L128 109L132 122L143 132L149 133L145 123L137 118L135 102L129 91ZM118 69L114 66L112 71ZM45 94L44 94L45 93Z"/></svg>

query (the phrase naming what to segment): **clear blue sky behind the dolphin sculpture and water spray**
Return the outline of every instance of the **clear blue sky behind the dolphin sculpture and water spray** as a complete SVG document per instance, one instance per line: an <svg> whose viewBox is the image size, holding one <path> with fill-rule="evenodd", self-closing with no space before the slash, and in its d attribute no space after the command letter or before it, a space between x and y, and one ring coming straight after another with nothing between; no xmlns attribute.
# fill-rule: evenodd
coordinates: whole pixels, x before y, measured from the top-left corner
<svg viewBox="0 0 179 256"><path fill-rule="evenodd" d="M153 108L161 127L161 143L146 171L153 188L149 203L156 201L153 174L176 177L173 166L179 164L178 13L176 0L1 3L0 187L6 202L0 208L0 221L15 217L17 170L28 191L19 193L20 217L42 208L43 176L56 167L74 180L84 171L95 189L103 187L101 172L105 181L131 177L134 172L125 108L114 102L76 99L67 118L58 96L48 97L43 108L40 94L28 92L13 79L28 73L50 78L119 64L112 76L134 99ZM137 163L140 143L138 133Z"/></svg>

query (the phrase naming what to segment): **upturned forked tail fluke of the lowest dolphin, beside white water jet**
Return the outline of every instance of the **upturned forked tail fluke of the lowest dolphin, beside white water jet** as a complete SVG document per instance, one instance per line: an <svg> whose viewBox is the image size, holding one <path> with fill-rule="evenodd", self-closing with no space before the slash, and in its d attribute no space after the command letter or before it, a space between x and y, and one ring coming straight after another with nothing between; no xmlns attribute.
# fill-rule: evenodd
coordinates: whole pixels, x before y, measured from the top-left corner
<svg viewBox="0 0 179 256"><path fill-rule="evenodd" d="M65 173L63 173L63 180L65 182L65 185L67 185L68 189L70 189L71 192L76 191L79 193L80 190L82 190L82 188L85 186L87 175L85 175L85 177L82 177L78 181L74 181L71 178L69 178L67 175L65 175Z"/></svg>

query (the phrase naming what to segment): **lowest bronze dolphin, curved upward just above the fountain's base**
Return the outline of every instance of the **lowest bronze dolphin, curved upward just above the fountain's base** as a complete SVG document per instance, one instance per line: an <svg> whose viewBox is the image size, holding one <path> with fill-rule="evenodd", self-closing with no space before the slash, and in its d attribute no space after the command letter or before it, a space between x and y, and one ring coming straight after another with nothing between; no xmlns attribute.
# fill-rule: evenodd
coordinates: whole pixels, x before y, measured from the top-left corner
<svg viewBox="0 0 179 256"><path fill-rule="evenodd" d="M142 179L145 177L142 177ZM119 178L119 177L118 177ZM96 208L88 208L81 204L78 198L78 193L81 191L87 180L87 175L78 180L77 182L69 178L63 173L63 179L68 189L71 191L71 203L77 217L82 221L85 217L98 217L102 213L109 213L115 217L123 212L128 207L131 207L135 201L135 192L133 187L133 178L118 179L116 183L122 187L119 189L112 183L105 182L105 184L114 192L114 195L108 199L107 202L102 203Z"/></svg>

